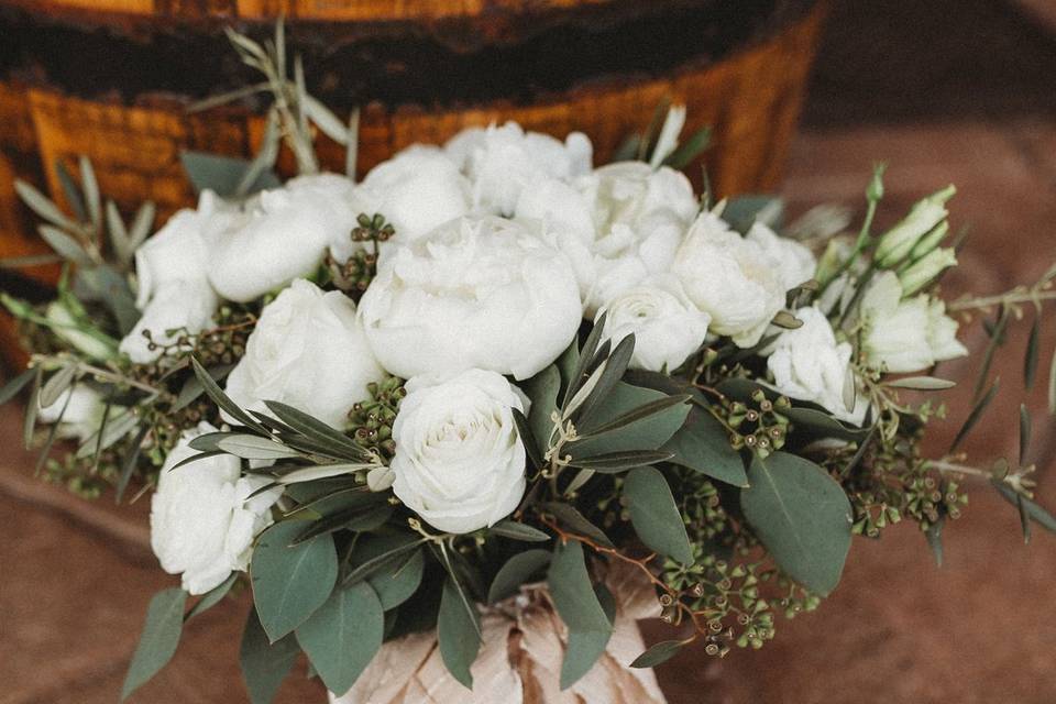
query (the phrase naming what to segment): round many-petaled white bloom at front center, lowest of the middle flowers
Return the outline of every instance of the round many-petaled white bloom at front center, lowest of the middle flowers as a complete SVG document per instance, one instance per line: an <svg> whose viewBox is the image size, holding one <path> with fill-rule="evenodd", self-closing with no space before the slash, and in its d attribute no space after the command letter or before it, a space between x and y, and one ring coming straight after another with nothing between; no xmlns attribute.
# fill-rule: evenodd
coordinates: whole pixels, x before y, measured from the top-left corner
<svg viewBox="0 0 1056 704"><path fill-rule="evenodd" d="M393 492L438 530L471 532L508 516L525 494L525 447L513 409L527 402L503 376L469 370L407 382L393 424Z"/></svg>

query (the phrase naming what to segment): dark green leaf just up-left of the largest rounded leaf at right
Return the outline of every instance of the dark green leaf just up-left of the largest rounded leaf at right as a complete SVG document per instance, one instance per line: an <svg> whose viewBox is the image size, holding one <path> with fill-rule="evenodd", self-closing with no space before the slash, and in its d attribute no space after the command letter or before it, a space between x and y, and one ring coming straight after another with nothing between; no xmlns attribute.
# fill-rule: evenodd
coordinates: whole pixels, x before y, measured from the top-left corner
<svg viewBox="0 0 1056 704"><path fill-rule="evenodd" d="M748 486L745 461L729 444L729 433L711 413L694 407L685 425L662 448L671 461L734 486Z"/></svg>

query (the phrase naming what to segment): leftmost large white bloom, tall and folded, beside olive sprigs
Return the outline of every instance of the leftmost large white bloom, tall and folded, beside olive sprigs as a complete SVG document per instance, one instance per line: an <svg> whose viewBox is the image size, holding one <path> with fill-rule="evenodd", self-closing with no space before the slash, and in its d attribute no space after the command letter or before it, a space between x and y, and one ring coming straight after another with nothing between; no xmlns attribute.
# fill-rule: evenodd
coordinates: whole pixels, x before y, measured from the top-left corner
<svg viewBox="0 0 1056 704"><path fill-rule="evenodd" d="M130 360L148 364L161 356L163 345L209 326L220 305L208 276L209 232L234 217L233 206L202 191L197 210L178 211L135 251L135 305L143 316L119 348Z"/></svg>

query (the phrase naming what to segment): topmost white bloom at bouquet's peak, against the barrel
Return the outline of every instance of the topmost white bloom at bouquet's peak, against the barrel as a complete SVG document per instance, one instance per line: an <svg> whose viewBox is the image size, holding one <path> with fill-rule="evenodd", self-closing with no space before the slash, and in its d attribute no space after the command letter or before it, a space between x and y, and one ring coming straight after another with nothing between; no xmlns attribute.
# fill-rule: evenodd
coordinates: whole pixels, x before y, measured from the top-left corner
<svg viewBox="0 0 1056 704"><path fill-rule="evenodd" d="M562 143L525 132L516 122L463 130L443 148L470 178L474 208L502 216L514 213L520 191L535 180L571 182L588 174L594 154L582 132L570 133Z"/></svg>

